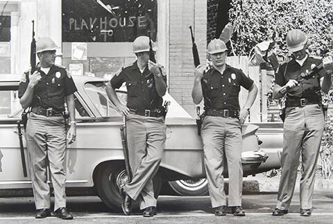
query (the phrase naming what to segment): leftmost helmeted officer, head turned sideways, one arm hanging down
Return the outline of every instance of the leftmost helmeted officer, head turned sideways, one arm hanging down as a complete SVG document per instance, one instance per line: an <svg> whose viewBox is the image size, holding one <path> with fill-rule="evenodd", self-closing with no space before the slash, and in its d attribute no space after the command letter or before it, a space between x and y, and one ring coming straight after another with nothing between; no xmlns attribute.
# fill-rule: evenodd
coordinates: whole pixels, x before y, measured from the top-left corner
<svg viewBox="0 0 333 224"><path fill-rule="evenodd" d="M59 47L49 37L37 39L36 71L26 71L19 83L19 98L24 109L31 107L26 126L26 142L31 162L31 180L35 198L35 218L51 216L51 189L46 180L49 164L54 189L54 214L72 219L66 209L66 139L76 139L74 81L64 67L54 64ZM65 101L70 128L65 130Z"/></svg>

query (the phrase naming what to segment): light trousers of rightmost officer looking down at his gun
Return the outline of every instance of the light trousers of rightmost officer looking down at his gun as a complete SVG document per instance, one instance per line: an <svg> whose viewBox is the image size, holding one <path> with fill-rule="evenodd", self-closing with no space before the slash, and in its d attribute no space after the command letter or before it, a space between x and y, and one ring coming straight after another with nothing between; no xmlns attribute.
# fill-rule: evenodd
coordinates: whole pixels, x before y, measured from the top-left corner
<svg viewBox="0 0 333 224"><path fill-rule="evenodd" d="M284 120L282 173L278 192L278 209L288 209L295 189L297 169L302 152L300 207L312 208L314 179L324 118L320 105L287 107Z"/></svg>

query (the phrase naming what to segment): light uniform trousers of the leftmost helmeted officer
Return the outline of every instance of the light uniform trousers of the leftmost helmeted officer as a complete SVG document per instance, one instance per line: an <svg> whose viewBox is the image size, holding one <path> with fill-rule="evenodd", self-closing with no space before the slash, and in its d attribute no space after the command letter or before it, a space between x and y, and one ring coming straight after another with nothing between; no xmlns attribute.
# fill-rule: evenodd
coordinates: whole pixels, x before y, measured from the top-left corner
<svg viewBox="0 0 333 224"><path fill-rule="evenodd" d="M46 180L49 164L54 189L54 211L66 207L66 132L64 118L31 112L26 126L27 149L36 209L49 209L51 191Z"/></svg>

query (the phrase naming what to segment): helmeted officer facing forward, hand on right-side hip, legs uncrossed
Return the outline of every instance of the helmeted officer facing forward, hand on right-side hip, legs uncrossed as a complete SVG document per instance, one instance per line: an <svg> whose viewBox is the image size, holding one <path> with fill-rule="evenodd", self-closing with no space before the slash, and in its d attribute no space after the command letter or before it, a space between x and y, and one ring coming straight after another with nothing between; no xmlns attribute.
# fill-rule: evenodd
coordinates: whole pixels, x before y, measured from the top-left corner
<svg viewBox="0 0 333 224"><path fill-rule="evenodd" d="M257 87L240 69L225 63L227 47L220 39L207 46L212 68L205 71L199 65L194 73L192 98L198 104L205 102L205 117L201 128L205 170L212 207L216 216L225 216L227 198L223 182L223 156L228 164L228 206L234 216L245 216L241 207L243 167L241 165L241 125L248 117L257 96ZM239 91L248 89L248 98L239 106Z"/></svg>

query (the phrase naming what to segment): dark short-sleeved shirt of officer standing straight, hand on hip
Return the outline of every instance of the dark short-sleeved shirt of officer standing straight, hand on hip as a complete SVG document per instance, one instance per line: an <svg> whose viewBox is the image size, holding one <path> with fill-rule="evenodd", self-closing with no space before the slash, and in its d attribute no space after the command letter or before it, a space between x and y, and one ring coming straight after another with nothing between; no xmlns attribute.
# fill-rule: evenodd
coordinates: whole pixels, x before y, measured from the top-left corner
<svg viewBox="0 0 333 224"><path fill-rule="evenodd" d="M240 87L250 89L253 80L248 78L243 71L225 66L223 74L214 69L203 74L201 86L205 101L205 110L239 110L238 95Z"/></svg>

